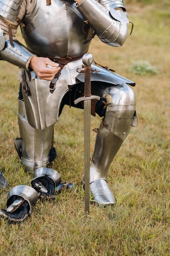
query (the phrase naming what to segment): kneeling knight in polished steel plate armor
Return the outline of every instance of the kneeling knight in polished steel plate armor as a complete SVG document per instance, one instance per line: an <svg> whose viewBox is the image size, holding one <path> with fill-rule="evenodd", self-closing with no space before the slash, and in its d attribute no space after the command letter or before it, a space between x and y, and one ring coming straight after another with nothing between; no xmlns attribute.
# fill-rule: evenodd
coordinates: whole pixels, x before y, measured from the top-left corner
<svg viewBox="0 0 170 256"><path fill-rule="evenodd" d="M0 59L20 67L20 138L15 139L15 148L26 172L35 174L41 168L46 172L56 157L54 124L64 105L75 107L74 100L84 94L82 56L93 37L119 47L127 38L128 23L123 0L0 0ZM26 47L15 39L19 26ZM130 127L137 126L136 99L130 87L135 83L95 63L91 71L91 93L100 97L93 101L91 113L102 121L90 189L97 204L110 205L116 203L107 184L110 163ZM83 108L82 103L76 107Z"/></svg>

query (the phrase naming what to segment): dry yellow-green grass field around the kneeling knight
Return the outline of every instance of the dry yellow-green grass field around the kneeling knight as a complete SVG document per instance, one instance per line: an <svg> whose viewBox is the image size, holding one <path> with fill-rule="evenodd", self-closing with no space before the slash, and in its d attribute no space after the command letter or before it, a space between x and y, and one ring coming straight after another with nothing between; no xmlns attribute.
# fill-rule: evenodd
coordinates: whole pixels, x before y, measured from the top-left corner
<svg viewBox="0 0 170 256"><path fill-rule="evenodd" d="M0 220L1 256L169 256L170 255L170 7L169 1L124 1L132 35L120 48L94 38L97 63L136 82L139 124L132 128L110 166L108 184L117 204L84 214L83 111L65 107L55 125L53 168L74 189L54 202L38 201L19 225ZM131 29L131 24L129 31ZM18 35L20 36L20 35ZM18 67L0 61L0 171L10 188L0 190L0 208L9 189L30 185L14 148L19 137ZM99 126L91 118L91 130ZM91 132L91 155L95 132Z"/></svg>

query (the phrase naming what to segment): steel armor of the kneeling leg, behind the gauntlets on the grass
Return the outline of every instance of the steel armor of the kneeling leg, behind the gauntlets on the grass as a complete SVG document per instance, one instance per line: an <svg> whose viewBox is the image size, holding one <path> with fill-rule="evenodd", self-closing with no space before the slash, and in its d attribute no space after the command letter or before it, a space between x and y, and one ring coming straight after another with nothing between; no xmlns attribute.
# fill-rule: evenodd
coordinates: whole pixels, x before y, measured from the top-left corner
<svg viewBox="0 0 170 256"><path fill-rule="evenodd" d="M44 130L31 127L26 117L24 102L19 100L18 124L21 138L15 139L15 148L18 152L26 172L34 172L39 167L49 165L53 128L51 125ZM54 153L55 158L56 154ZM53 160L53 159L52 159Z"/></svg>

